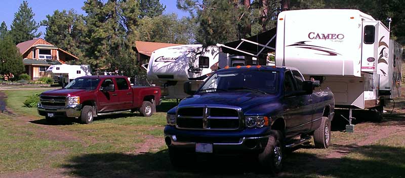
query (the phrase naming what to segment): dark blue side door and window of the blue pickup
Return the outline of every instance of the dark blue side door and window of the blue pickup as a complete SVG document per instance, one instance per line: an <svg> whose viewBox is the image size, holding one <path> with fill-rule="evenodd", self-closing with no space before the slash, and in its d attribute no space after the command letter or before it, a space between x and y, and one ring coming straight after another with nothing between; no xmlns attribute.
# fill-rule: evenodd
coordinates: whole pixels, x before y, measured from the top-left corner
<svg viewBox="0 0 405 178"><path fill-rule="evenodd" d="M299 80L299 81L297 81ZM287 115L287 137L294 137L307 132L311 128L313 108L310 95L292 95L302 90L303 78L301 75L294 77L291 71L286 71L284 81L285 112Z"/></svg>

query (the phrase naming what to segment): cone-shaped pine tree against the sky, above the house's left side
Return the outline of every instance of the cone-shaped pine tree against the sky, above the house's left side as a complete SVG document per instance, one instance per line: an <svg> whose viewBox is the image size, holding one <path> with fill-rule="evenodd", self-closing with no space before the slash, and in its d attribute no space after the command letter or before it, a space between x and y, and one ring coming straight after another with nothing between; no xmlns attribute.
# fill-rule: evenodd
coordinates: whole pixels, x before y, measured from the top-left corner
<svg viewBox="0 0 405 178"><path fill-rule="evenodd" d="M39 24L33 19L35 16L32 9L28 7L28 2L23 1L18 11L14 14L10 33L14 42L20 43L41 36L41 32L36 34Z"/></svg>

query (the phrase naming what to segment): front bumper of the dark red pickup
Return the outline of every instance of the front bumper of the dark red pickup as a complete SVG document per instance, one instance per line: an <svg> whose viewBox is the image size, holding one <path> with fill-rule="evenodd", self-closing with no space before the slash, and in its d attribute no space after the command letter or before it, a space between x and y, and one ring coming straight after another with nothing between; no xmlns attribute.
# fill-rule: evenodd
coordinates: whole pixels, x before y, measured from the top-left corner
<svg viewBox="0 0 405 178"><path fill-rule="evenodd" d="M68 105L68 106L44 106L37 105L39 115L48 116L48 113L53 113L55 117L74 117L79 118L82 113L82 105Z"/></svg>

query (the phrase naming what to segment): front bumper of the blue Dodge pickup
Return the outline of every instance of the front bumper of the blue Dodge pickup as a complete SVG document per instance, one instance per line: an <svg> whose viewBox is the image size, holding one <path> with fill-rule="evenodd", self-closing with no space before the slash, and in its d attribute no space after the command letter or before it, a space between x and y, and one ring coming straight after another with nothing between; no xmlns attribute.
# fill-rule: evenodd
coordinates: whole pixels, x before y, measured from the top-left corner
<svg viewBox="0 0 405 178"><path fill-rule="evenodd" d="M166 145L185 152L195 152L196 143L210 143L213 153L260 153L271 136L269 128L226 132L175 129L174 126L166 126Z"/></svg>

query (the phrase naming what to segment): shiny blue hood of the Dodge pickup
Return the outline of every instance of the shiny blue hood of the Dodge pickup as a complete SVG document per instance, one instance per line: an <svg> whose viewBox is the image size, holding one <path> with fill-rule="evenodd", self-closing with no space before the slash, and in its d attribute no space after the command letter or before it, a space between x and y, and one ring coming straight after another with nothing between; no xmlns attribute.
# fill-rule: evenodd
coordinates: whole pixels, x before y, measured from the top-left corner
<svg viewBox="0 0 405 178"><path fill-rule="evenodd" d="M240 107L245 113L254 108L258 108L259 105L265 103L279 103L276 95L263 95L257 93L207 93L202 95L194 95L185 98L179 103L179 107L195 104L218 104Z"/></svg>

